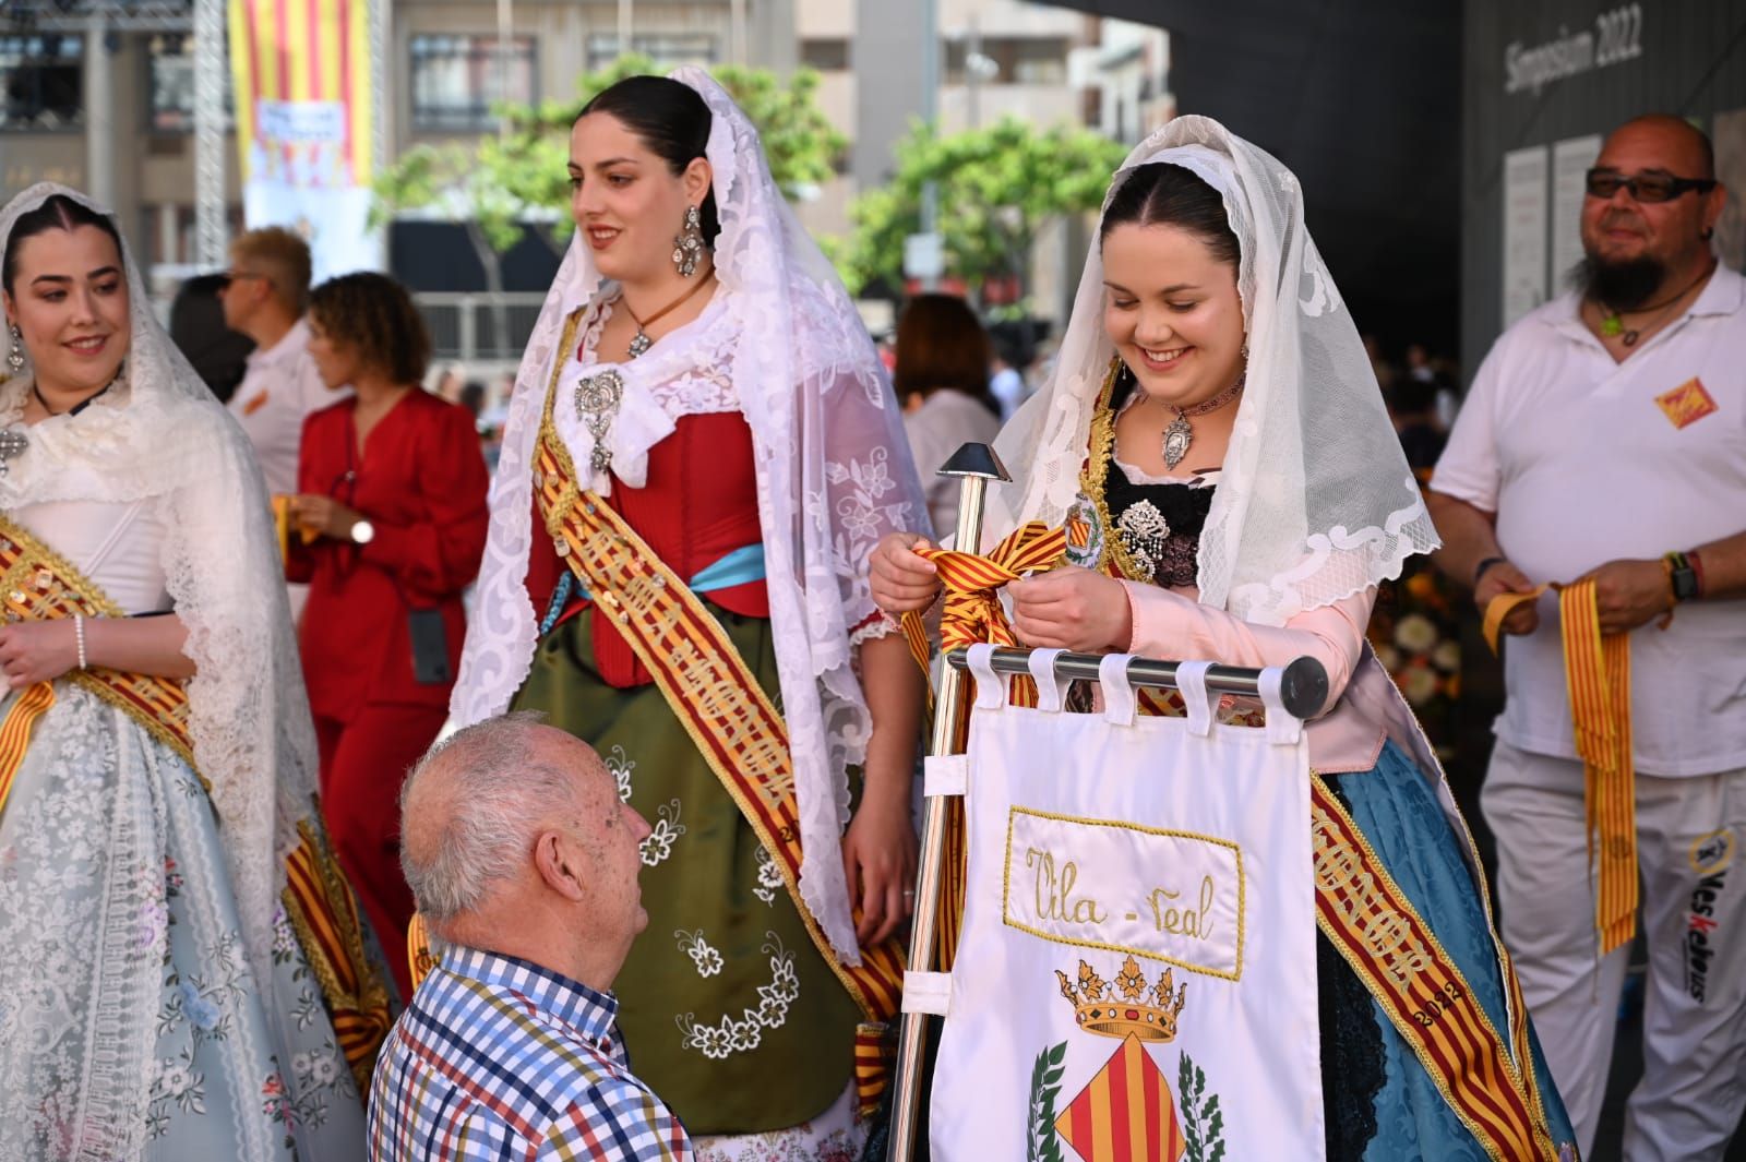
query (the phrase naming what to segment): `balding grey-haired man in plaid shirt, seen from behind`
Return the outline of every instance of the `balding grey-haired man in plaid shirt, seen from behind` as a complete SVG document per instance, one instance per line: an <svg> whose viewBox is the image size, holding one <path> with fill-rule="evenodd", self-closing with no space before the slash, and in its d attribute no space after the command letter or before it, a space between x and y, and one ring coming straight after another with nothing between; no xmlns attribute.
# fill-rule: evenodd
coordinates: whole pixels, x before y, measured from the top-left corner
<svg viewBox="0 0 1746 1162"><path fill-rule="evenodd" d="M402 792L402 864L447 951L382 1045L372 1162L690 1162L630 1073L613 977L648 923L648 824L594 750L510 715L459 731Z"/></svg>

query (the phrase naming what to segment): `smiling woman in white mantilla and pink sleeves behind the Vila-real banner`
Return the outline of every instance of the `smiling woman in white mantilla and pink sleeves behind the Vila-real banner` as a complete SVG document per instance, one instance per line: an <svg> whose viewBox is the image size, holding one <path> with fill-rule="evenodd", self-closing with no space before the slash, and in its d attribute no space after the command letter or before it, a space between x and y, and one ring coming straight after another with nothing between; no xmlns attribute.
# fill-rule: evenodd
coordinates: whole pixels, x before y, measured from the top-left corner
<svg viewBox="0 0 1746 1162"><path fill-rule="evenodd" d="M995 447L1016 480L990 496L988 543L1032 520L1067 532L1063 567L1009 586L1020 640L1243 666L1320 660L1329 696L1308 724L1311 768L1491 1024L1521 1021L1477 853L1364 642L1378 584L1437 534L1304 229L1297 178L1205 117L1140 143L1110 181L1055 377ZM873 591L892 612L938 590L910 548L887 537L875 553ZM1159 712L1184 714L1179 696L1165 701ZM1219 715L1255 724L1259 710L1226 698ZM1325 1157L1484 1159L1468 1113L1416 1056L1416 1026L1402 1031L1374 1000L1374 977L1325 933L1315 972ZM1535 1157L1552 1159L1570 1122L1533 1057L1517 1061L1521 1106Z"/></svg>

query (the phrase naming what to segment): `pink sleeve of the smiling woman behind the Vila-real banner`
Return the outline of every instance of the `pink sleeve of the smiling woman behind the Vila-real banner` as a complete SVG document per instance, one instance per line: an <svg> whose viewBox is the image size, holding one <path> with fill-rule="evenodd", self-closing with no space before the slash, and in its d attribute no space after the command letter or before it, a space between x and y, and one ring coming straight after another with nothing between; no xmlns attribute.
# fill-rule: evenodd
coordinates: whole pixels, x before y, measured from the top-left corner
<svg viewBox="0 0 1746 1162"><path fill-rule="evenodd" d="M1128 649L1149 658L1208 660L1231 666L1275 666L1310 656L1327 668L1327 714L1346 693L1346 682L1364 656L1364 628L1371 623L1376 588L1290 618L1283 626L1254 625L1193 597L1156 584L1123 581L1133 611Z"/></svg>

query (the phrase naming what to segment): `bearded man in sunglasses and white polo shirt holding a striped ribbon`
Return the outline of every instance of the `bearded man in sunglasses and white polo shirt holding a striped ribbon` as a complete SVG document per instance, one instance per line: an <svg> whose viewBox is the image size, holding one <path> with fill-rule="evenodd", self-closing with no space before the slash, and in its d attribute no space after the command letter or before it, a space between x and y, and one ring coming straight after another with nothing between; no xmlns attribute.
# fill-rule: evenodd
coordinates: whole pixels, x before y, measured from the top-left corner
<svg viewBox="0 0 1746 1162"><path fill-rule="evenodd" d="M1629 694L1612 668L1606 712L1584 665L1566 675L1582 632L1554 588L1502 619L1507 701L1481 801L1503 940L1584 1155L1641 874L1631 1162L1720 1159L1746 1106L1746 867L1732 867L1746 841L1746 279L1716 263L1713 166L1709 140L1674 117L1606 138L1571 290L1493 345L1428 497L1439 565L1481 611L1592 579L1589 640L1598 621L1603 654L1627 642ZM1571 691L1585 726L1624 740L1615 761L1578 754ZM1617 808L1594 813L1606 796Z"/></svg>

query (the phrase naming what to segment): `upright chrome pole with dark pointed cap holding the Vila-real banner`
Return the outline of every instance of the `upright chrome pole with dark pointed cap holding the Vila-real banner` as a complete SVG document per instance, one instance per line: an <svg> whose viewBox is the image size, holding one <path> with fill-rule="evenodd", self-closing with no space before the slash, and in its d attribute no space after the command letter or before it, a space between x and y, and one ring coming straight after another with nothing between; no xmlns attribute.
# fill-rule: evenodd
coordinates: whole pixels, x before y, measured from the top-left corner
<svg viewBox="0 0 1746 1162"><path fill-rule="evenodd" d="M941 476L959 476L959 527L953 544L976 551L981 548L983 504L990 480L1011 480L1000 457L986 443L966 443L939 469ZM957 754L964 742L957 736L959 707L964 700L966 673L959 666L943 666L939 691L934 698L934 738L931 755ZM946 860L946 801L934 796L927 801L922 822L922 865L915 878L915 918L910 925L910 968L929 972L934 967L934 944L939 939L939 876ZM896 1099L890 1113L889 1162L910 1162L915 1152L917 1113L922 1101L922 1054L927 1042L927 1014L903 1014L903 1033L897 1042Z"/></svg>

